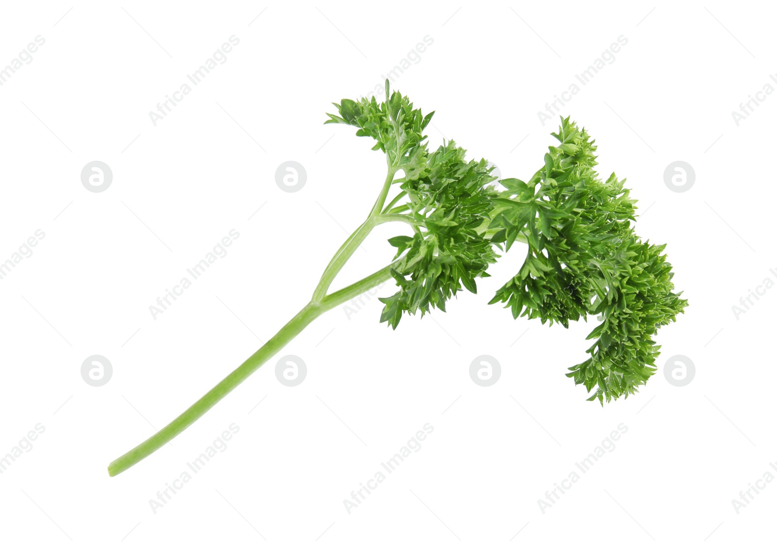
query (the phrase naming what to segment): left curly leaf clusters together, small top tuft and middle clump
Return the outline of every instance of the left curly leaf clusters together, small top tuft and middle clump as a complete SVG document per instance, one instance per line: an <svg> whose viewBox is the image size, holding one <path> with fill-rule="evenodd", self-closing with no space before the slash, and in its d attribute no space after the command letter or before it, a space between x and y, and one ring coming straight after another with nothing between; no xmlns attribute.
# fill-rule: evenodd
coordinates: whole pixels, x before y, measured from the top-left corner
<svg viewBox="0 0 777 548"><path fill-rule="evenodd" d="M358 127L358 136L375 139L373 150L385 152L389 169L404 174L396 180L399 194L384 211L413 225L413 236L389 239L397 248L395 258L401 256L392 269L399 291L380 299L381 321L396 328L403 313L445 310L458 291L475 293L475 279L488 276L497 255L478 229L490 221L496 193L487 185L496 178L486 160L467 161L466 151L452 140L429 152L423 129L434 112L423 116L406 96L389 96L388 80L386 96L389 100L381 103L375 96L333 103L340 116L328 114L325 123Z"/></svg>

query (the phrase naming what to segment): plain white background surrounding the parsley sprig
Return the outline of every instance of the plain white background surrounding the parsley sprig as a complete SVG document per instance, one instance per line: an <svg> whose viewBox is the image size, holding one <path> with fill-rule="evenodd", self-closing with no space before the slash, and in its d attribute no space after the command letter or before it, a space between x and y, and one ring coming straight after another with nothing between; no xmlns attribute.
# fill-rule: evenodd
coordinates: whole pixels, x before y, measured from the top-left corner
<svg viewBox="0 0 777 548"><path fill-rule="evenodd" d="M777 279L777 96L739 126L731 112L777 69L774 19L767 2L5 3L0 65L46 42L0 87L0 259L46 236L0 280L0 454L46 430L0 475L3 545L762 545L777 484L738 515L731 501L777 460L777 290L738 319L731 307ZM228 60L154 126L148 112L232 35ZM391 331L375 298L330 311L284 349L308 366L298 387L270 360L108 477L307 302L384 177L371 141L325 113L427 35L392 88L437 111L432 147L453 138L519 178L554 142L538 111L628 39L563 113L597 140L602 175L628 178L638 232L668 242L690 302L657 336L658 373L626 401L585 401L564 373L595 319L565 330L486 306L517 246L447 314ZM94 160L112 168L105 192L82 186ZM300 192L275 183L287 160L307 170ZM664 184L676 160L695 168L688 192ZM154 320L149 305L231 229L228 255ZM336 286L389 261L385 239L405 229L381 229ZM103 387L80 373L94 354L113 364ZM502 366L488 388L469 377L483 354ZM664 378L675 355L695 363L686 387ZM427 422L422 449L349 515L343 499ZM232 423L225 452L152 512ZM620 423L615 450L543 514L538 499Z"/></svg>

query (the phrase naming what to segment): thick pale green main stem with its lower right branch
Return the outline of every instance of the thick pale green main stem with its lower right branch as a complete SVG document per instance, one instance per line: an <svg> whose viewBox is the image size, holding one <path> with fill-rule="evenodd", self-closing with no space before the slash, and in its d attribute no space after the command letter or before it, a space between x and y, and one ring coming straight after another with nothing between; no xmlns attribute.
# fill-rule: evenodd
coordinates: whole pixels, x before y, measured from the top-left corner
<svg viewBox="0 0 777 548"><path fill-rule="evenodd" d="M391 269L396 262L392 262L391 265L374 272L370 276L359 280L356 283L352 283L350 286L344 287L342 290L336 291L331 295L324 297L319 303L311 301L307 303L305 307L298 312L296 316L291 318L284 327L280 328L269 341L267 341L262 348L253 353L249 359L229 373L220 383L208 390L207 394L200 397L199 400L179 414L169 425L162 430L159 430L155 435L142 442L139 446L127 451L124 455L120 456L117 460L114 460L108 465L108 473L110 476L116 476L119 473L124 472L127 468L134 466L147 456L154 453L157 449L165 445L171 439L175 438L181 432L189 428L194 421L203 416L209 409L215 404L221 401L221 398L235 390L235 388L246 380L251 374L259 369L267 360L272 358L283 349L291 339L296 337L310 324L315 318L327 310L354 299L370 290L386 280L391 278Z"/></svg>

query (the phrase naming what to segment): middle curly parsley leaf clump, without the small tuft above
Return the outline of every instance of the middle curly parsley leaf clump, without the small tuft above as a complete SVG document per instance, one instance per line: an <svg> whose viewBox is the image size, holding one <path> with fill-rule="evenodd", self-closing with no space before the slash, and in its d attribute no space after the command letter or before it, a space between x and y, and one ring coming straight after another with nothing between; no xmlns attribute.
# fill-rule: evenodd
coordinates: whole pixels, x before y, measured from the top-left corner
<svg viewBox="0 0 777 548"><path fill-rule="evenodd" d="M466 161L466 151L450 140L425 158L423 168L402 182L408 202L398 208L413 219L414 234L391 238L402 261L392 270L399 291L381 298L381 321L396 328L402 313L445 310L445 301L462 286L477 293L475 279L489 276L496 262L479 227L489 220L496 192L486 160ZM406 251L406 252L405 252Z"/></svg>

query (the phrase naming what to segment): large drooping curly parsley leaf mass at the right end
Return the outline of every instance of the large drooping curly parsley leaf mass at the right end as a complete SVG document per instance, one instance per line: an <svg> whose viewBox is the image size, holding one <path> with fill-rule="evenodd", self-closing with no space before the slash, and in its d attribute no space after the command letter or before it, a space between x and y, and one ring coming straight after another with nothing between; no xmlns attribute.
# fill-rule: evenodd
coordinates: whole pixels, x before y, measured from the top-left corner
<svg viewBox="0 0 777 548"><path fill-rule="evenodd" d="M674 293L664 245L636 235L634 203L615 174L601 182L596 146L585 130L563 119L559 145L528 181L505 179L494 199L493 242L510 248L526 241L521 270L497 290L491 303L507 303L513 317L540 318L568 327L598 314L588 338L590 358L567 373L584 384L589 400L634 394L656 371L660 346L652 337L676 319L688 301Z"/></svg>

